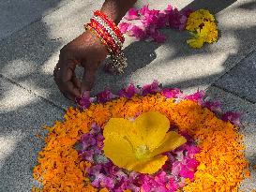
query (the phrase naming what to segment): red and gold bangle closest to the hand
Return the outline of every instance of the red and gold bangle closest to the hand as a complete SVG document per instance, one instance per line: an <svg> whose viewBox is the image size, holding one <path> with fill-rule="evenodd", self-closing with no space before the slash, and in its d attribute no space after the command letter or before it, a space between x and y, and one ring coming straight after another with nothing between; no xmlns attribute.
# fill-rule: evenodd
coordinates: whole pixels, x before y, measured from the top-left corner
<svg viewBox="0 0 256 192"><path fill-rule="evenodd" d="M104 27L101 26L100 23L98 23L95 20L91 20L90 26L95 29L95 31L99 34L100 37L102 37L110 46L113 53L117 53L119 48L116 46L116 44L113 41L113 38L109 35L109 33L106 31Z"/></svg>

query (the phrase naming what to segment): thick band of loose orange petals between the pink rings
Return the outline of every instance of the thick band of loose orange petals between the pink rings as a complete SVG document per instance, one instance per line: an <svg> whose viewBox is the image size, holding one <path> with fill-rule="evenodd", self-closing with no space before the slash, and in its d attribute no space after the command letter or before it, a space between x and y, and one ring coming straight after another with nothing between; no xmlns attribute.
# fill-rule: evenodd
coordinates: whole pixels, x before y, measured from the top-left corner
<svg viewBox="0 0 256 192"><path fill-rule="evenodd" d="M34 178L43 185L41 191L98 191L86 178L85 169L90 164L83 161L74 145L94 122L104 127L111 118L131 118L146 111L164 114L171 125L187 131L199 142L202 149L196 155L199 169L194 181L187 180L184 191L237 191L248 168L237 127L219 120L212 111L196 102L174 103L173 99L160 94L133 96L131 99L121 97L104 105L93 104L85 111L68 109L63 123L56 122L53 127L46 127L49 130L46 145L39 153L38 166L34 169Z"/></svg>

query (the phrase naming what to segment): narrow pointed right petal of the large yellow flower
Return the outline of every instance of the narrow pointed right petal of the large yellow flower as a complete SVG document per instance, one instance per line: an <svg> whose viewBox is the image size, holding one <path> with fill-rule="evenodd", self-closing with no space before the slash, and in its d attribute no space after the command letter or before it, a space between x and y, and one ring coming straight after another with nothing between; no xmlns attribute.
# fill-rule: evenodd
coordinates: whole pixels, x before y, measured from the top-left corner
<svg viewBox="0 0 256 192"><path fill-rule="evenodd" d="M183 136L179 135L175 131L170 131L166 134L161 145L153 151L152 155L155 156L172 151L173 149L183 145L185 142L187 142L187 140Z"/></svg>

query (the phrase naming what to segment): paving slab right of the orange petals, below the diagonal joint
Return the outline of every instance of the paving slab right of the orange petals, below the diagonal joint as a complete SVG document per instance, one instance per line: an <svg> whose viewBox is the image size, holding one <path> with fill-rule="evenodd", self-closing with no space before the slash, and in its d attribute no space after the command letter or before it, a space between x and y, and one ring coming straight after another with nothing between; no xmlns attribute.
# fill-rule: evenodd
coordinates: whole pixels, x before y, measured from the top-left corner
<svg viewBox="0 0 256 192"><path fill-rule="evenodd" d="M256 105L214 86L207 89L206 95L209 100L219 100L224 111L238 111L242 113L243 126L240 131L245 136L245 153L251 169L251 176L243 181L240 190L245 192L255 190L256 169L253 169L253 166L256 165Z"/></svg>

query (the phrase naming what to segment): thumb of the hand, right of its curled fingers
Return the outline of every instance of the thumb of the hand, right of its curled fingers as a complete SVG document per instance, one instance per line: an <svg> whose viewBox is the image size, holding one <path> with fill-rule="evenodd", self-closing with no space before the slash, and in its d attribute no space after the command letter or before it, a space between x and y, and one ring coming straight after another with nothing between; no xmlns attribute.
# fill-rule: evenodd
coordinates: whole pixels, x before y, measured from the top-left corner
<svg viewBox="0 0 256 192"><path fill-rule="evenodd" d="M81 83L82 96L90 96L90 91L93 88L93 85L96 79L96 72L97 72L97 67L91 67L91 66L94 66L93 64L86 65L86 66L89 66L89 67L84 67L84 71L83 71L83 79Z"/></svg>

